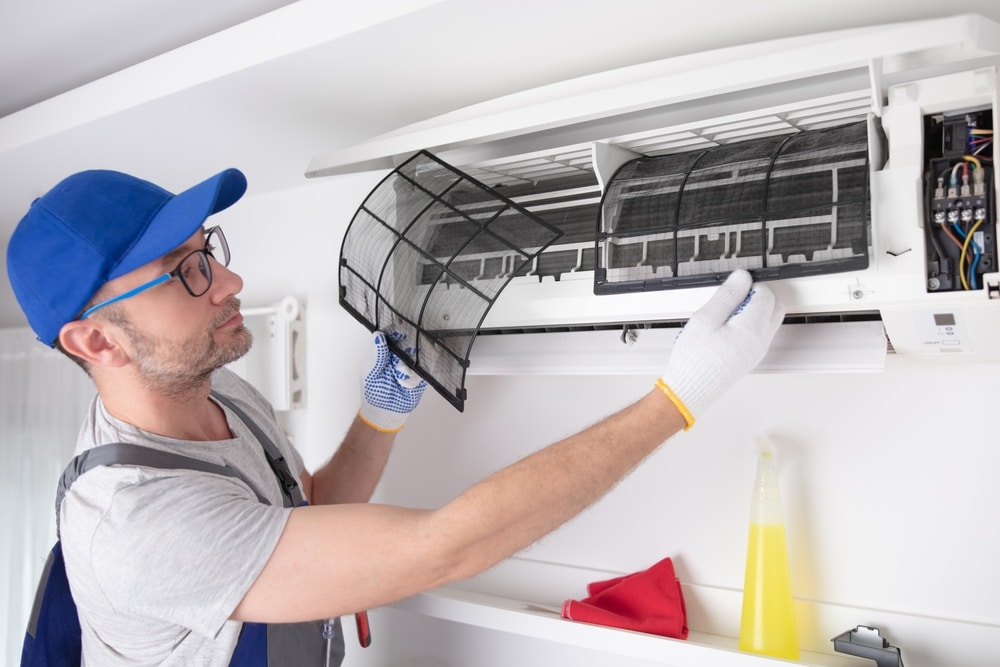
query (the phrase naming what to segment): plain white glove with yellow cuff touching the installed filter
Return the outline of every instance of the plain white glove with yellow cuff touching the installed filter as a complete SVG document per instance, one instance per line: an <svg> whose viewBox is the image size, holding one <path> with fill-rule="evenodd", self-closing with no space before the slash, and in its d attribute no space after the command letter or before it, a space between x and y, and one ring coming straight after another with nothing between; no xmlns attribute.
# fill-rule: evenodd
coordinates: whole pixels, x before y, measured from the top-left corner
<svg viewBox="0 0 1000 667"><path fill-rule="evenodd" d="M667 371L656 382L694 426L717 396L760 363L785 317L764 285L734 271L677 334Z"/></svg>

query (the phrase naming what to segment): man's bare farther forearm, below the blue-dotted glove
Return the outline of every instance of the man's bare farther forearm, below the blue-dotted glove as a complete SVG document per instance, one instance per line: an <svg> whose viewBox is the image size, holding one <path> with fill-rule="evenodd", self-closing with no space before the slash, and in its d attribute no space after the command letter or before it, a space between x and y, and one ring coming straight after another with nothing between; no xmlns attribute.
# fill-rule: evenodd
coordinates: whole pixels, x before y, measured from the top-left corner
<svg viewBox="0 0 1000 667"><path fill-rule="evenodd" d="M367 502L382 477L395 439L395 433L381 433L355 418L340 448L313 474L310 502Z"/></svg>

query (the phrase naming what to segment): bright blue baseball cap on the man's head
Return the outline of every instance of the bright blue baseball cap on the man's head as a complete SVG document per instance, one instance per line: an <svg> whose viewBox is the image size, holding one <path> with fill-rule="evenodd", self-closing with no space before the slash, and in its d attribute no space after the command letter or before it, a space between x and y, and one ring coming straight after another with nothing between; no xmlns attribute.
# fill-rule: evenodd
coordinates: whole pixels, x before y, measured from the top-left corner
<svg viewBox="0 0 1000 667"><path fill-rule="evenodd" d="M36 199L7 246L7 275L52 347L104 283L162 257L247 189L226 169L179 194L117 171L73 174Z"/></svg>

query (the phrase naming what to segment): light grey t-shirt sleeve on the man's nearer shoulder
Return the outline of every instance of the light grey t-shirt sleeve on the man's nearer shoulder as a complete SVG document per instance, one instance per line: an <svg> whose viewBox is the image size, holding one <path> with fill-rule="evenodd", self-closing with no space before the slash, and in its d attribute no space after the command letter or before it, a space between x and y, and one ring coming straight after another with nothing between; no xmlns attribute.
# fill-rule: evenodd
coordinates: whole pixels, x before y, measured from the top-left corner
<svg viewBox="0 0 1000 667"><path fill-rule="evenodd" d="M88 494L102 492L107 511L86 517ZM253 585L291 511L258 502L238 480L188 471L99 468L70 494L64 509L84 516L65 525L89 533L78 546L89 549L92 582L108 605L209 637Z"/></svg>

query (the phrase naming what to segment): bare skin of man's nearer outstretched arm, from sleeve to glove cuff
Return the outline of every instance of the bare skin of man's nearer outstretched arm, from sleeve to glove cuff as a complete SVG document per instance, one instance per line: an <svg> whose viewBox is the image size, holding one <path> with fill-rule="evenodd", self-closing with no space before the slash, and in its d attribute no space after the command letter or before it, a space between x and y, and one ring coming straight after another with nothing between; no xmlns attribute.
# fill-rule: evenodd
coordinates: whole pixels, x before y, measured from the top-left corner
<svg viewBox="0 0 1000 667"><path fill-rule="evenodd" d="M677 408L653 390L440 509L295 509L233 618L339 616L481 572L584 510L684 426Z"/></svg>

